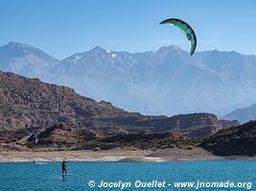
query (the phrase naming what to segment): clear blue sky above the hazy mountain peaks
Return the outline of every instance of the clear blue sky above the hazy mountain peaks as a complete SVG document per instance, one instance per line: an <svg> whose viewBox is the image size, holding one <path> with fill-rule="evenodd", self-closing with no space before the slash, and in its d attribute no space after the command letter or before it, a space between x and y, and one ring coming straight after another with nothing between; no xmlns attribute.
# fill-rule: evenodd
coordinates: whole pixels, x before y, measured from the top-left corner
<svg viewBox="0 0 256 191"><path fill-rule="evenodd" d="M182 32L159 22L177 17L198 36L197 51L256 54L254 0L1 0L0 46L33 45L59 59L95 46L145 52L175 44Z"/></svg>

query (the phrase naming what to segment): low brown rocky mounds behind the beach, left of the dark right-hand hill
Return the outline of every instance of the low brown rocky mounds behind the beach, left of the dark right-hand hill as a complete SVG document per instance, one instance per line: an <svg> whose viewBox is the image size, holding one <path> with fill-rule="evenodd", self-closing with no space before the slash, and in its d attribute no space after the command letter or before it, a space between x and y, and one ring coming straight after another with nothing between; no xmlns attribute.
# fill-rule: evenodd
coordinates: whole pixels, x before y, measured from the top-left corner
<svg viewBox="0 0 256 191"><path fill-rule="evenodd" d="M87 129L54 125L25 141L30 149L51 148L69 150L107 150L116 147L135 149L189 149L196 146L195 138L183 137L178 133L96 133Z"/></svg>

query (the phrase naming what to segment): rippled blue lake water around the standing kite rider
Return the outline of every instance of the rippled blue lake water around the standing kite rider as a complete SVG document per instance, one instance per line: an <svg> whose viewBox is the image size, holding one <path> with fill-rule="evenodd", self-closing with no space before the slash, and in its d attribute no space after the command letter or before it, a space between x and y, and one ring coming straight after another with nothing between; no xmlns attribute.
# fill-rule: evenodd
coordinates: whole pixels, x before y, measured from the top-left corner
<svg viewBox="0 0 256 191"><path fill-rule="evenodd" d="M191 161L191 162L67 162L70 176L62 179L60 162L33 164L30 162L0 163L0 190L121 190L99 188L102 180L123 180L132 186L124 190L196 190L174 188L175 181L233 181L252 182L250 190L256 190L256 161ZM94 180L96 187L88 182ZM165 188L136 188L133 182L166 181ZM244 188L199 188L198 190L248 190Z"/></svg>

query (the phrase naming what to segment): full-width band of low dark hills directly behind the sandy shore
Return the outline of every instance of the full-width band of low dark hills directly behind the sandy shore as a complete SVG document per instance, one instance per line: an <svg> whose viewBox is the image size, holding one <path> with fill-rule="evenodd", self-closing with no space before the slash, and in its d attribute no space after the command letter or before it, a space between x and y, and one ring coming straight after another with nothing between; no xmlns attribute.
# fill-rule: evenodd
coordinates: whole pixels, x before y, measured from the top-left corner
<svg viewBox="0 0 256 191"><path fill-rule="evenodd" d="M58 124L41 131L35 138L26 130L0 134L1 150L108 150L112 148L159 150L202 147L217 156L255 156L256 121L222 129L206 138L188 138L176 132L126 133L95 132L89 129Z"/></svg>

